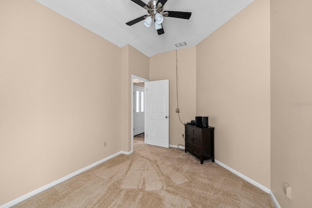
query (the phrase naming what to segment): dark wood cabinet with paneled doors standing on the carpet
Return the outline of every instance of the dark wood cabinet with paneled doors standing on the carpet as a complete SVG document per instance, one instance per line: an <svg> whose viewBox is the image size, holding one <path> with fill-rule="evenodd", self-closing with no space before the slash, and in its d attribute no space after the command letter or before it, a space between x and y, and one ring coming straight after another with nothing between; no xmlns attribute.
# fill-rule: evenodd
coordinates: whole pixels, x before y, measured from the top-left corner
<svg viewBox="0 0 312 208"><path fill-rule="evenodd" d="M215 162L215 127L199 128L185 124L185 152L190 152L203 164Z"/></svg>

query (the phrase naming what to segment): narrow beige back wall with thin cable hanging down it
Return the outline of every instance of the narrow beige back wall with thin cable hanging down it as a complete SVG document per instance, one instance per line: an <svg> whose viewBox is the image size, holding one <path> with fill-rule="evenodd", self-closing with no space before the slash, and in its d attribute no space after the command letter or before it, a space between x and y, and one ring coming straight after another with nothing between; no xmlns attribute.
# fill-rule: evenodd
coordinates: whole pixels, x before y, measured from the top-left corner
<svg viewBox="0 0 312 208"><path fill-rule="evenodd" d="M184 126L176 113L176 57L180 118L186 123L194 120L196 113L196 47L166 52L150 58L150 80L169 79L169 143L175 146L184 145Z"/></svg>

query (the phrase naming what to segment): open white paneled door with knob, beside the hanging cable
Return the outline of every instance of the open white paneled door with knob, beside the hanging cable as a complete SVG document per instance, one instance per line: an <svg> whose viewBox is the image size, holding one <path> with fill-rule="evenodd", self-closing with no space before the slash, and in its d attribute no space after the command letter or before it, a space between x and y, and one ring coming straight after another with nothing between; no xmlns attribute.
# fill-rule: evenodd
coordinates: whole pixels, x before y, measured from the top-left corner
<svg viewBox="0 0 312 208"><path fill-rule="evenodd" d="M145 82L146 143L169 148L169 79Z"/></svg>

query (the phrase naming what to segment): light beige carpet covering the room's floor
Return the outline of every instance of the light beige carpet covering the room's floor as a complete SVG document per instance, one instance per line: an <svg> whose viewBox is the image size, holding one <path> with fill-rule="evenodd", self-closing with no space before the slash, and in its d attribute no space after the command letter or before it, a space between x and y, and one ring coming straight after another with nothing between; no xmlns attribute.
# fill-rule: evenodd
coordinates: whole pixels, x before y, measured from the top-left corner
<svg viewBox="0 0 312 208"><path fill-rule="evenodd" d="M14 208L274 208L269 194L211 160L145 145Z"/></svg>

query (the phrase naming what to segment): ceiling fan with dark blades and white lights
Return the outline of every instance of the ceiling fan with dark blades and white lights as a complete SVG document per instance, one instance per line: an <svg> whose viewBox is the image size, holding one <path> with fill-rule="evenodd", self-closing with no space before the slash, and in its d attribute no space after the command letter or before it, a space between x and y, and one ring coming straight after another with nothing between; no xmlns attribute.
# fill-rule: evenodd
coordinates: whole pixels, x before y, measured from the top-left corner
<svg viewBox="0 0 312 208"><path fill-rule="evenodd" d="M133 19L126 24L131 26L139 21L144 20L144 25L150 27L154 19L155 29L157 30L158 35L164 34L164 29L162 28L163 17L171 18L181 18L181 19L190 19L191 12L176 12L176 11L164 11L164 5L167 0L150 0L147 4L141 0L132 0L139 6L147 10L148 15L143 15L137 19Z"/></svg>

